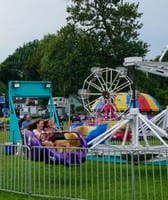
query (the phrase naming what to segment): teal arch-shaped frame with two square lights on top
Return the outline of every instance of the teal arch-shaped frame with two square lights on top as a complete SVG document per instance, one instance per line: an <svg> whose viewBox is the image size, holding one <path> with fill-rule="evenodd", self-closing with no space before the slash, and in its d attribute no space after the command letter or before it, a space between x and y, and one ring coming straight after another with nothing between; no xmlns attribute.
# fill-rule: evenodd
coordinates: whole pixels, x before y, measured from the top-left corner
<svg viewBox="0 0 168 200"><path fill-rule="evenodd" d="M16 117L14 99L22 98L48 98L50 101L50 118L55 117L57 127L61 129L57 111L52 98L51 81L10 81L8 84L10 109L10 142L17 144L22 141L18 119Z"/></svg>

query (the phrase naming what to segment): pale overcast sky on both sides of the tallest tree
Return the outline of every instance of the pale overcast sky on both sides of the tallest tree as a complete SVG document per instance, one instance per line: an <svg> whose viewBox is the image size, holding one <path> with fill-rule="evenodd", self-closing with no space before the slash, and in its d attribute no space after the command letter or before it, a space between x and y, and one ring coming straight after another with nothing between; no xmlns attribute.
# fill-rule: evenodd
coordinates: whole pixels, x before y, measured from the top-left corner
<svg viewBox="0 0 168 200"><path fill-rule="evenodd" d="M140 2L143 12L141 39L150 44L147 59L161 54L168 44L168 0L123 0ZM42 39L66 25L68 0L0 0L0 63L16 48Z"/></svg>

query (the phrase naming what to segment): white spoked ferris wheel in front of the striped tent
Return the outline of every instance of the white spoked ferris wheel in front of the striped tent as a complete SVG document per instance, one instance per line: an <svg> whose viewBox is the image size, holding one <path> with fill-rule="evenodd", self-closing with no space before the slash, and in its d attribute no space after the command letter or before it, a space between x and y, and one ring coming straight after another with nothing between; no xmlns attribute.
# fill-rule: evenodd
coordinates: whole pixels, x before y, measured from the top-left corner
<svg viewBox="0 0 168 200"><path fill-rule="evenodd" d="M120 118L127 109L121 109L125 103L131 104L130 93L127 102L120 98L123 92L131 91L132 80L126 75L124 68L98 68L91 69L91 74L84 80L79 91L84 108L91 116L104 114L105 120ZM120 94L120 97L119 97ZM124 100L123 100L124 99Z"/></svg>

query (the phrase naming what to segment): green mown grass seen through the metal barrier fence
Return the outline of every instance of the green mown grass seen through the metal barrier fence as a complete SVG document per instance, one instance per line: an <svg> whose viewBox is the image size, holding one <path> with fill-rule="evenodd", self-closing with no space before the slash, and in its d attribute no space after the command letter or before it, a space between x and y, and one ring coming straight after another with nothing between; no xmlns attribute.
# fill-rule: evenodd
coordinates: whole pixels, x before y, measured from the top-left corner
<svg viewBox="0 0 168 200"><path fill-rule="evenodd" d="M136 199L168 199L168 166L116 164L88 160L77 167L66 167L31 161L29 174L29 163L25 155L5 156L1 151L0 156L2 189L27 193L28 178L31 177L32 195L129 200L132 198L132 188L134 188ZM132 185L132 172L134 172L134 185ZM28 199L28 196L0 192L1 198Z"/></svg>

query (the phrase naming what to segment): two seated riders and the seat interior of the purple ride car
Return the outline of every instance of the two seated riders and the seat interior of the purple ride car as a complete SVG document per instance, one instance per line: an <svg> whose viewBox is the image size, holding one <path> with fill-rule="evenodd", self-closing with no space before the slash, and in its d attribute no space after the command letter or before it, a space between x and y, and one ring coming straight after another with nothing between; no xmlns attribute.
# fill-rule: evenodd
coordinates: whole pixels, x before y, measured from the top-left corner
<svg viewBox="0 0 168 200"><path fill-rule="evenodd" d="M33 131L35 137L44 146L66 147L65 152L69 151L69 147L80 146L80 138L76 133L58 130L54 127L52 119L40 119L28 124L25 128Z"/></svg>

